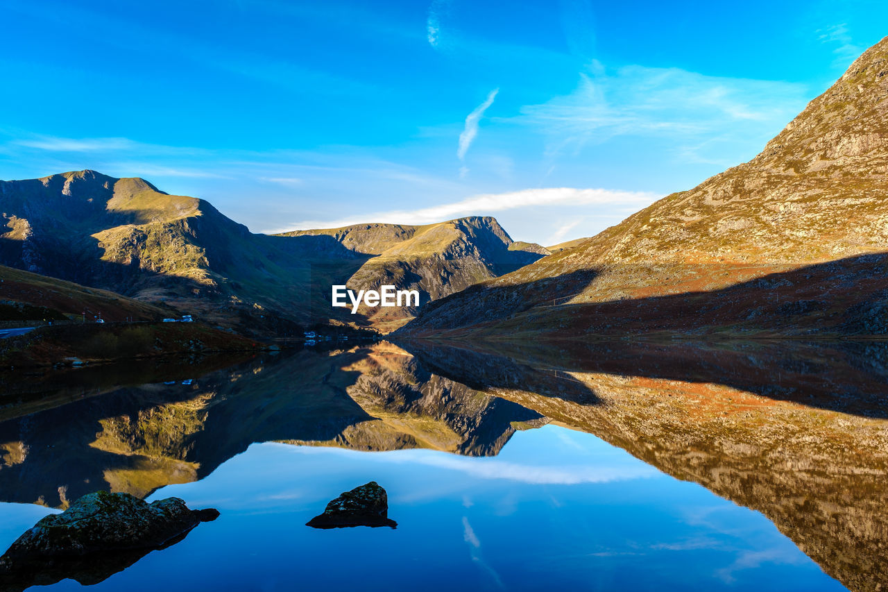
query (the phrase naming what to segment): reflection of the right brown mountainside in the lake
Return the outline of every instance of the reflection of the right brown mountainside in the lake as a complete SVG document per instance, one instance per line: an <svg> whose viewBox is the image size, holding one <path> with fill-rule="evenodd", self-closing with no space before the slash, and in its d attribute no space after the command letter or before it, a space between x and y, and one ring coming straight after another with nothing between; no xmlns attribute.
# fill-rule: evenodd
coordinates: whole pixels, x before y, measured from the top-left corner
<svg viewBox="0 0 888 592"><path fill-rule="evenodd" d="M847 588L888 580L884 343L489 345L410 348L433 372L762 512Z"/></svg>

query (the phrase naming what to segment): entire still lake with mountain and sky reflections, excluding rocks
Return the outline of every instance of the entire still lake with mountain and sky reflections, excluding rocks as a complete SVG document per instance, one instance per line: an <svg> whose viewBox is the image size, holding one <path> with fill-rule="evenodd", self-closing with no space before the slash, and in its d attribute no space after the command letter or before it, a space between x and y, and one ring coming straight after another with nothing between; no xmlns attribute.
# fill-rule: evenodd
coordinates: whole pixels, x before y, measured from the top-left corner
<svg viewBox="0 0 888 592"><path fill-rule="evenodd" d="M107 489L221 514L68 574L97 590L876 589L884 359L382 342L7 376L0 545ZM397 528L305 525L369 481Z"/></svg>

